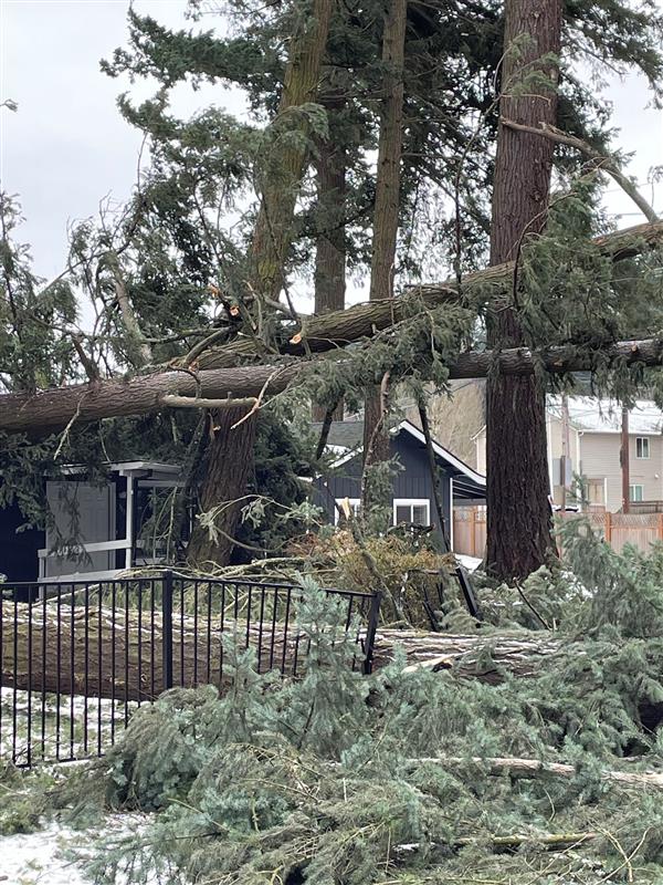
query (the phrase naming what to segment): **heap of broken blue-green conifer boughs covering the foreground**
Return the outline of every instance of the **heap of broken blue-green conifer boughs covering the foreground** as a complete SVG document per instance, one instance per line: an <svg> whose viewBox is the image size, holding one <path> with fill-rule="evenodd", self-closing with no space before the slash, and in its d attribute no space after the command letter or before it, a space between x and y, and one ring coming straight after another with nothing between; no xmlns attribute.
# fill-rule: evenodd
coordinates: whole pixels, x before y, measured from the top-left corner
<svg viewBox="0 0 663 885"><path fill-rule="evenodd" d="M257 675L228 637L224 697L211 687L166 693L136 712L106 759L72 777L61 801L83 825L108 810L143 815L126 840L96 837L91 877L660 882L661 788L610 772L662 760L663 550L617 556L581 527L568 531L575 571L541 572L519 589L533 598L557 589L545 613L558 606L556 631L519 626L517 591L502 589L505 623L495 604L477 644L490 660L509 625L556 643L527 676L406 671L397 655L362 677L350 667L352 633L305 580L298 623L311 652L299 681ZM519 759L570 768L524 773Z"/></svg>

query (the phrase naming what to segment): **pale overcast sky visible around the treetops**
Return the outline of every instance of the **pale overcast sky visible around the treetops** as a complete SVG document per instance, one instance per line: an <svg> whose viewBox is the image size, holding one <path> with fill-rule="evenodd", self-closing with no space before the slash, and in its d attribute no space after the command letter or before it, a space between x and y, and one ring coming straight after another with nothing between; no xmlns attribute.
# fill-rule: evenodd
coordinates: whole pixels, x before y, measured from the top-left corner
<svg viewBox="0 0 663 885"><path fill-rule="evenodd" d="M127 0L0 0L0 101L19 103L17 114L0 110L0 178L20 196L23 239L46 278L63 268L67 221L93 215L105 195L126 199L136 179L140 136L116 108L128 84L99 71L99 59L126 42L127 8ZM135 8L165 24L185 23L185 0L136 0ZM663 165L663 113L648 108L651 96L636 76L612 80L608 96L619 146L636 152L629 171L651 198L645 183L650 168ZM178 104L194 111L210 98L238 106L218 88L181 95ZM642 220L617 186L607 202L623 215L622 227ZM663 183L655 208L663 211Z"/></svg>

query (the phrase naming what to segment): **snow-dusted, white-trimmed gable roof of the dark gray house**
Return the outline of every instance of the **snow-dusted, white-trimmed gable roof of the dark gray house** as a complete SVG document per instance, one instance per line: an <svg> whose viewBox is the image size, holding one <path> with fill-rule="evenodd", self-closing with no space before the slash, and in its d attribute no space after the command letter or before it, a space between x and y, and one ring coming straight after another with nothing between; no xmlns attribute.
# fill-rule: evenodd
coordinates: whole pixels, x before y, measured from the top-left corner
<svg viewBox="0 0 663 885"><path fill-rule="evenodd" d="M322 424L314 424L314 428L319 431ZM425 437L423 433L415 427L412 421L401 421L391 429L391 433L394 436L400 433L406 433L420 446L425 447ZM456 497L483 498L485 494L486 478L434 439L432 442L435 456L444 461L449 472L453 477L454 494ZM354 458L364 448L364 421L333 421L329 427L327 446L332 451L340 456L336 461L336 466L340 466L350 458Z"/></svg>

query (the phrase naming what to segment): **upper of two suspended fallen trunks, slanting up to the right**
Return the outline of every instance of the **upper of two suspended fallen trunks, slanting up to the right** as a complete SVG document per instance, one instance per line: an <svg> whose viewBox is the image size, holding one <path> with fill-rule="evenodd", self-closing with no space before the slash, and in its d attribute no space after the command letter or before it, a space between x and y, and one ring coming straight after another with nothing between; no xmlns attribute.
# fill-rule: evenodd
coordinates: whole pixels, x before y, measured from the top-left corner
<svg viewBox="0 0 663 885"><path fill-rule="evenodd" d="M597 237L593 242L602 254L612 258L613 261L623 261L659 246L662 240L663 222L657 222L636 225ZM469 273L463 279L463 292L467 294L481 289L482 298L490 301L492 298L503 295L511 288L513 277L513 261L495 264ZM301 330L293 329L293 335L281 347L281 353L303 356L308 352L320 353L345 347L354 341L372 337L376 332L411 316L422 303L433 309L457 300L459 290L455 280L413 285L398 298L378 299L346 310L308 317ZM198 365L199 368L222 368L236 365L239 360L246 357L256 357L255 344L251 340L239 339L224 347L211 348L201 354Z"/></svg>

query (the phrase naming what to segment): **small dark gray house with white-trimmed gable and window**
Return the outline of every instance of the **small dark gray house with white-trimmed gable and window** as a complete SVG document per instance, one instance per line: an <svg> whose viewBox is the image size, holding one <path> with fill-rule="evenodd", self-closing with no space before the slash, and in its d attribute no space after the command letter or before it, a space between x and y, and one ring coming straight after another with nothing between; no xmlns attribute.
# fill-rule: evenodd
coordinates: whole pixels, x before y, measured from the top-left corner
<svg viewBox="0 0 663 885"><path fill-rule="evenodd" d="M314 479L314 501L326 511L329 522L338 522L339 503L346 499L351 509L359 508L362 439L362 421L332 424L327 447L337 457L329 476ZM444 521L453 549L453 508L484 504L486 480L438 442L433 442L433 449L442 480ZM425 438L411 421L401 421L391 431L391 455L398 456L402 467L393 478L393 524L431 525L438 530Z"/></svg>

